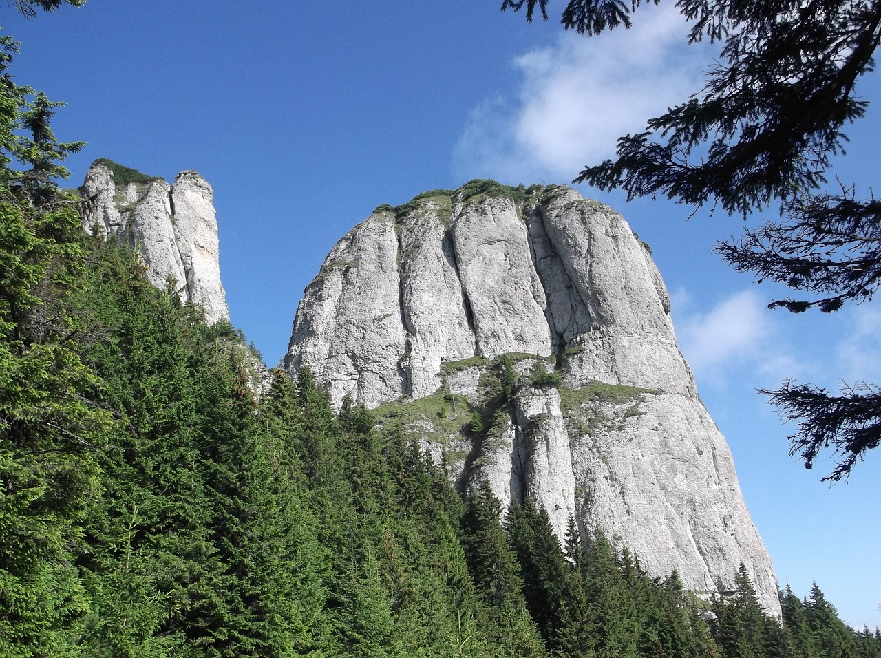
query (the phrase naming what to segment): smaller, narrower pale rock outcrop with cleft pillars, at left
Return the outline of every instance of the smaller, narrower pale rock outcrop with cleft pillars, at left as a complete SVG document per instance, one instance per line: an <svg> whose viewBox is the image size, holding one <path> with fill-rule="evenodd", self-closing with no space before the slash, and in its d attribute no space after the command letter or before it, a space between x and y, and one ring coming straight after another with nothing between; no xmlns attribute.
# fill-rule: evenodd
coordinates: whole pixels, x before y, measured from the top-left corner
<svg viewBox="0 0 881 658"><path fill-rule="evenodd" d="M181 300L204 308L207 322L229 319L220 283L214 192L195 171L174 185L109 160L97 160L79 189L83 227L114 235L144 258L153 285L174 285Z"/></svg>

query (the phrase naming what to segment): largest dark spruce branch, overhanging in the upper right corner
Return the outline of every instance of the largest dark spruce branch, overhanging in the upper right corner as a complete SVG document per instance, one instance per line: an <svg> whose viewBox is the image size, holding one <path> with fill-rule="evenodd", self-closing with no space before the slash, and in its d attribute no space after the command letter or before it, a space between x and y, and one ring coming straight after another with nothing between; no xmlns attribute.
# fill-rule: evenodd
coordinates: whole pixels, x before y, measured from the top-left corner
<svg viewBox="0 0 881 658"><path fill-rule="evenodd" d="M818 188L846 140L842 126L864 114L855 79L873 65L881 7L815 4L808 14L779 6L770 22L762 12L729 20L740 29L727 35L703 92L648 121L646 132L622 137L617 159L586 167L575 182L624 189L629 198L717 200L744 215ZM692 152L703 156L699 166L672 157Z"/></svg>

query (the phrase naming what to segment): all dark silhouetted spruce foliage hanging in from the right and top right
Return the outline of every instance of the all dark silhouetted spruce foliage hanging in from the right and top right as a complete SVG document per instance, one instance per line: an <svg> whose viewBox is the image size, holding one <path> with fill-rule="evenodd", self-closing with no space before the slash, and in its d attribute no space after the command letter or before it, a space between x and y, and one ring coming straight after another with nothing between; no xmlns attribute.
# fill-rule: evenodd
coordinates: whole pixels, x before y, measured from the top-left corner
<svg viewBox="0 0 881 658"><path fill-rule="evenodd" d="M657 4L659 0L655 0ZM504 0L525 6L531 21L548 0ZM640 0L571 0L569 29L589 35L631 26ZM799 299L769 307L824 313L869 301L881 284L881 206L839 183L826 189L830 161L847 142L844 130L868 103L858 79L874 68L881 40L876 0L682 0L690 41L720 44L704 88L646 130L618 139L616 159L587 166L575 182L623 189L628 199L663 195L710 205L744 218L779 206L779 219L722 242L717 251L736 270L787 285ZM790 454L811 468L831 447L838 463L824 479L848 477L881 440L881 396L863 384L840 396L786 382L766 391L783 418L795 420Z"/></svg>

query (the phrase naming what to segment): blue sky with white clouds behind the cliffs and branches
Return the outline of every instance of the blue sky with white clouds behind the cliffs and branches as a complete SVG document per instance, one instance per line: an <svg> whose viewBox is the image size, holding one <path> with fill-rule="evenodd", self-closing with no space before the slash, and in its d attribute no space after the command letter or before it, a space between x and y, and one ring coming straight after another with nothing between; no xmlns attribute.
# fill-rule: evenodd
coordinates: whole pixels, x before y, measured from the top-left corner
<svg viewBox="0 0 881 658"><path fill-rule="evenodd" d="M68 103L58 137L88 143L68 161L71 187L101 157L211 182L233 324L274 365L324 255L375 206L476 177L571 181L611 156L618 135L700 89L713 54L686 48L663 4L640 9L629 33L593 40L563 33L553 14L529 26L499 4L90 0L29 20L2 5L0 25L22 42L19 83ZM881 99L877 75L860 91ZM874 110L838 163L863 194L877 171ZM790 459L790 428L754 392L788 376L881 381L881 308L768 311L773 289L709 253L739 218L581 193L652 246L781 585L805 595L816 580L849 624L881 625L881 453L828 487L831 462L807 471Z"/></svg>

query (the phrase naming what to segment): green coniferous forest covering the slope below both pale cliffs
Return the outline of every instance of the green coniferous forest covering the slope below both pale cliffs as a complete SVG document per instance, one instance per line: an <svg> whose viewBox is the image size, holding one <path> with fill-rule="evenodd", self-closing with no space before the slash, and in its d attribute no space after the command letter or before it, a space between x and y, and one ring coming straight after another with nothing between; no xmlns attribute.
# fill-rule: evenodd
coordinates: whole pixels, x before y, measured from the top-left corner
<svg viewBox="0 0 881 658"><path fill-rule="evenodd" d="M42 5L41 5L42 6ZM701 599L248 348L56 186L57 107L0 37L0 656L881 655L818 587Z"/></svg>

